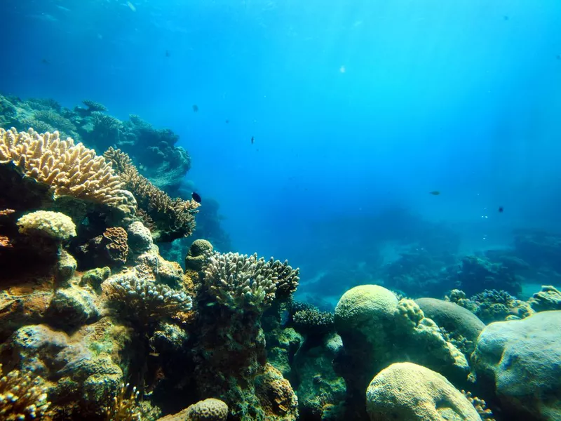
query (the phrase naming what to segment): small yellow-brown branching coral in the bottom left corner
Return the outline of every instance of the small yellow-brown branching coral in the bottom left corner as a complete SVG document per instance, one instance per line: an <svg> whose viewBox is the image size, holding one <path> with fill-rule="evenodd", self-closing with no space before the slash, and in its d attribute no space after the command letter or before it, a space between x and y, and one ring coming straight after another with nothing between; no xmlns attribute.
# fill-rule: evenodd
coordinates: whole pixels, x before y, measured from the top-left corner
<svg viewBox="0 0 561 421"><path fill-rule="evenodd" d="M2 365L0 364L0 374ZM50 406L44 380L12 370L0 377L0 418L5 421L41 419Z"/></svg>

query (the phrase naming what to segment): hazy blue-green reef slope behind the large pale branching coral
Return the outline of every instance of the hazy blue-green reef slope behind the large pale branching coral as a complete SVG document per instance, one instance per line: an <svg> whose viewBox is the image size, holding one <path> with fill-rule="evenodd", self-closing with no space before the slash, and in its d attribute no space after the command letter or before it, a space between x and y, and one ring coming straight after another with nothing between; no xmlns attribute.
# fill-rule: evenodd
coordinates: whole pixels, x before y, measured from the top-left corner
<svg viewBox="0 0 561 421"><path fill-rule="evenodd" d="M134 114L121 121L109 115L107 107L90 100L68 109L51 99L0 95L0 127L18 131L34 128L39 133L58 131L60 138L73 138L99 152L119 148L144 177L172 196L178 195L191 168L191 157L175 145L179 136L173 131L156 129Z"/></svg>

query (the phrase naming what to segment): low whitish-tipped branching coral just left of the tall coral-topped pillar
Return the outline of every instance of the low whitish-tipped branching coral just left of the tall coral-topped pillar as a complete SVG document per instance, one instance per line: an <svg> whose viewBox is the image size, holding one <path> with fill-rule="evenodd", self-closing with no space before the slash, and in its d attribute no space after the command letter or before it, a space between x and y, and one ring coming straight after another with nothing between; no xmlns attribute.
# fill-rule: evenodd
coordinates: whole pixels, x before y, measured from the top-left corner
<svg viewBox="0 0 561 421"><path fill-rule="evenodd" d="M185 293L144 281L132 272L111 276L102 283L102 289L123 310L121 314L144 326L178 312L188 312L193 305Z"/></svg>

